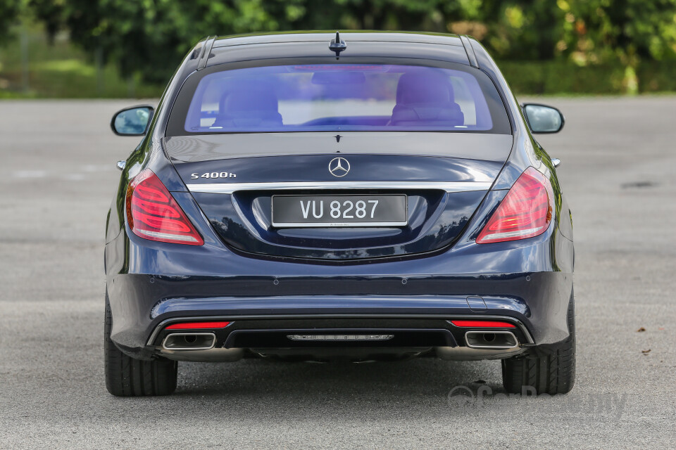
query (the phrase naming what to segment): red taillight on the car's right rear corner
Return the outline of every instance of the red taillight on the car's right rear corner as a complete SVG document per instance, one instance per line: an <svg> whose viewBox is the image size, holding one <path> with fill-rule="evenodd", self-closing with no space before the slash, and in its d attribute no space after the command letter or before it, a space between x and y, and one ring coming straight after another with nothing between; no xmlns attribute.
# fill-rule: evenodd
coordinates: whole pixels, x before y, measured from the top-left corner
<svg viewBox="0 0 676 450"><path fill-rule="evenodd" d="M528 167L482 229L477 244L539 236L549 227L552 211L549 179Z"/></svg>

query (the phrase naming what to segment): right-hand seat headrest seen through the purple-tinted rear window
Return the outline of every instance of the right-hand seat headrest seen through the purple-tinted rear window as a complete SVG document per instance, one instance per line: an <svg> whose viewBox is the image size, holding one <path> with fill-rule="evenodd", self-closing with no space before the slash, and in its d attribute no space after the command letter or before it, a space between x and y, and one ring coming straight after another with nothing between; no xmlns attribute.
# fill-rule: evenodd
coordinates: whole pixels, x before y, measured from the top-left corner
<svg viewBox="0 0 676 450"><path fill-rule="evenodd" d="M448 77L434 70L408 72L399 77L396 104L453 102L453 86Z"/></svg>

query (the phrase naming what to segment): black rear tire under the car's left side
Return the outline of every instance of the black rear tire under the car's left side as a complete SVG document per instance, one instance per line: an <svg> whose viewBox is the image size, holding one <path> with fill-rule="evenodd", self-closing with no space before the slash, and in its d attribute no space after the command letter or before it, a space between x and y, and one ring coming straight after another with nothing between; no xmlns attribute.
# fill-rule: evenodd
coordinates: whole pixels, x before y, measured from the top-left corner
<svg viewBox="0 0 676 450"><path fill-rule="evenodd" d="M111 340L113 316L106 294L106 321L104 323L104 360L106 389L118 397L168 395L176 390L178 364L168 359L142 361L133 359Z"/></svg>

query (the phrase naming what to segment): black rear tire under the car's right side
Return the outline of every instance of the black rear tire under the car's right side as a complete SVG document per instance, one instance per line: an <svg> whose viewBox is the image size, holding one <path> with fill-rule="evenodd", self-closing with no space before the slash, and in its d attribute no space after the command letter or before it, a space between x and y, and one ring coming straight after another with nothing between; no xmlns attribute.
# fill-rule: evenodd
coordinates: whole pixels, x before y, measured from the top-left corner
<svg viewBox="0 0 676 450"><path fill-rule="evenodd" d="M551 347L537 347L533 354L502 360L502 382L507 392L567 394L575 383L575 296L568 305L568 339Z"/></svg>

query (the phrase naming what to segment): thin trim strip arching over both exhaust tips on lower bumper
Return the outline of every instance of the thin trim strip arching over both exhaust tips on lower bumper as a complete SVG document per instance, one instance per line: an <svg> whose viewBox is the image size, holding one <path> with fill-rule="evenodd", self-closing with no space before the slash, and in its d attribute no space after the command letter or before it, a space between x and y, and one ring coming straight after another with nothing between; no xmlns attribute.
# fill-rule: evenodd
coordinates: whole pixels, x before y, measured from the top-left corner
<svg viewBox="0 0 676 450"><path fill-rule="evenodd" d="M452 320L467 320L467 319L484 319L491 320L496 319L499 321L511 322L517 326L523 335L525 335L527 344L534 345L535 341L528 332L528 329L525 325L518 319L514 319L510 316L484 316L477 314L250 314L246 316L184 316L184 317L172 317L171 319L164 319L155 326L155 329L148 338L146 345L153 345L155 339L160 334L166 326L175 322L185 322L185 321L200 321L200 320L218 320L218 319L227 319L230 322L237 320L246 320L246 319L401 319L405 317L406 319L446 319L451 325ZM455 326L455 325L453 325Z"/></svg>

